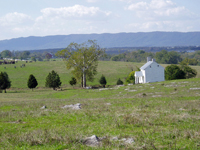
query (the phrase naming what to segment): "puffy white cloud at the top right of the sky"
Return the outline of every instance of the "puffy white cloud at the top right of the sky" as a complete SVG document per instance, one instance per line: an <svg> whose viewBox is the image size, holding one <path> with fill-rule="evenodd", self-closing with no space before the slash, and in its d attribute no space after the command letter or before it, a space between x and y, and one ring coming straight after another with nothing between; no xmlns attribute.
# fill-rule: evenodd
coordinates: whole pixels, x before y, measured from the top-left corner
<svg viewBox="0 0 200 150"><path fill-rule="evenodd" d="M189 19L194 18L194 14L184 6L177 6L170 0L151 0L150 3L132 3L126 10L135 12L138 18L146 20L153 19Z"/></svg>

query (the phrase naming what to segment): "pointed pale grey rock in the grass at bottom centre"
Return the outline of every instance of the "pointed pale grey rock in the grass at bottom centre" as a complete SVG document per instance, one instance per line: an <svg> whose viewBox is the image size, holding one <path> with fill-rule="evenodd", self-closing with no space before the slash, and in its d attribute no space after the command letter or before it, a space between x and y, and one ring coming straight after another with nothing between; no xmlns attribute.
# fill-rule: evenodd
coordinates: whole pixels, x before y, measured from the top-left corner
<svg viewBox="0 0 200 150"><path fill-rule="evenodd" d="M86 138L83 144L87 146L96 147L101 145L101 140L96 135L93 135L91 137Z"/></svg>

